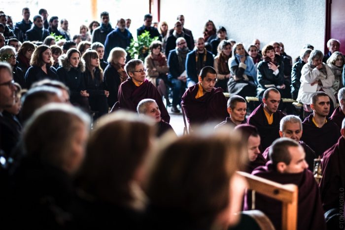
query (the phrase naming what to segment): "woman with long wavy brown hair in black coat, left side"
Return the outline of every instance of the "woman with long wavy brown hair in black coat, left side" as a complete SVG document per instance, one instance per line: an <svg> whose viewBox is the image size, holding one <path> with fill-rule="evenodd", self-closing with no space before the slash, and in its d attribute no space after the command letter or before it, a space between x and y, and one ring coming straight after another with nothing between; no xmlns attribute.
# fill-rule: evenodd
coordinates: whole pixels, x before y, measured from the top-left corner
<svg viewBox="0 0 345 230"><path fill-rule="evenodd" d="M51 49L46 45L38 46L31 57L31 67L25 74L25 83L28 88L39 80L51 79L59 80L56 69L53 67L53 57Z"/></svg>

